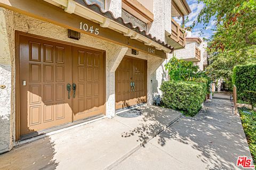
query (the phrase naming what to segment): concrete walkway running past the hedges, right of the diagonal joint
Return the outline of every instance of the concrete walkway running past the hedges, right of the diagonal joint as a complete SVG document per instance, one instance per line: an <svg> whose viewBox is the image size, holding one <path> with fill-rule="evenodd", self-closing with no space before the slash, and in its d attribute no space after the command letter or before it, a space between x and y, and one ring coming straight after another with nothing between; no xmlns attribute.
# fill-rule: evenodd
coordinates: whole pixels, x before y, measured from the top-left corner
<svg viewBox="0 0 256 170"><path fill-rule="evenodd" d="M238 156L251 154L229 95L214 94L193 118L180 118L114 169L243 169Z"/></svg>

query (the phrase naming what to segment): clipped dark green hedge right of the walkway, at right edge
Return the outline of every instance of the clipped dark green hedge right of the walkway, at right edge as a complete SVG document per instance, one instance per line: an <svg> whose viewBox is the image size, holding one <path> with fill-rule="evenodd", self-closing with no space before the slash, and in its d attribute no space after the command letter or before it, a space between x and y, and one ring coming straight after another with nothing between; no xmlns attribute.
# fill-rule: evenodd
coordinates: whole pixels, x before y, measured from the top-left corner
<svg viewBox="0 0 256 170"><path fill-rule="evenodd" d="M238 99L242 98L245 90L256 91L256 64L235 66L232 81L236 85Z"/></svg>

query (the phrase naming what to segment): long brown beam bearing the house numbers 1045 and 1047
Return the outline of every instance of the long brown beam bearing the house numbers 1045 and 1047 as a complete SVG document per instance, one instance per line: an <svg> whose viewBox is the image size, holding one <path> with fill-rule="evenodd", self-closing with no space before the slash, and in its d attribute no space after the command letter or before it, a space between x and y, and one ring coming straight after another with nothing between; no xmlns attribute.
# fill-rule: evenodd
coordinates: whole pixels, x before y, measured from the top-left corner
<svg viewBox="0 0 256 170"><path fill-rule="evenodd" d="M156 48L147 46L138 40L125 37L122 33L116 32L109 28L102 28L98 23L82 18L76 14L69 14L62 8L42 0L0 0L0 6L31 16L33 18L37 18L39 20L60 25L61 27L65 27L67 29L85 33L86 35L133 48L157 57L167 58L166 53L162 50L157 50ZM87 29L85 25L84 29L84 24L86 24L89 28ZM91 27L93 27L93 32L90 31ZM95 29L97 29L97 31L95 31Z"/></svg>

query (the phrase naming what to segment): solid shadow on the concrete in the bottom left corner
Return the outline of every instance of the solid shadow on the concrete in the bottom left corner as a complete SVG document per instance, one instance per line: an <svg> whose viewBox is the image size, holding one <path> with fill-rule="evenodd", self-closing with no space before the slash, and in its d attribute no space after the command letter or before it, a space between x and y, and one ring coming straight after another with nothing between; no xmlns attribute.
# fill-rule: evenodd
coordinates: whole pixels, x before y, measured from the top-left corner
<svg viewBox="0 0 256 170"><path fill-rule="evenodd" d="M0 169L56 169L54 142L45 137L0 155Z"/></svg>

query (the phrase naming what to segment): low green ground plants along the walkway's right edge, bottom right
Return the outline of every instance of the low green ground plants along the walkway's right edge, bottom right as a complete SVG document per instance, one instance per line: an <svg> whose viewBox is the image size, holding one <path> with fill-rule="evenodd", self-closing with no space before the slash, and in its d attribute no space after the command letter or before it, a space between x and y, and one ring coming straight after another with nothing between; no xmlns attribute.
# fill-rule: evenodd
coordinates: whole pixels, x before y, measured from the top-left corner
<svg viewBox="0 0 256 170"><path fill-rule="evenodd" d="M251 114L243 112L244 110ZM251 151L253 163L256 165L256 112L249 111L246 108L239 108L239 114L241 116L244 133Z"/></svg>

